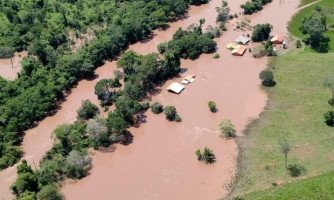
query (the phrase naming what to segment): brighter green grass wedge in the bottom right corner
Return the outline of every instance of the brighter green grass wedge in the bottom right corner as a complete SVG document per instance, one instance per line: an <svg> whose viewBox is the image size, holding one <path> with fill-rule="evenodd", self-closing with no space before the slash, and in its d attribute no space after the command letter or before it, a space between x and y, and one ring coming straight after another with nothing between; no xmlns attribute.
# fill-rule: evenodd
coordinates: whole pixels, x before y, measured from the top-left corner
<svg viewBox="0 0 334 200"><path fill-rule="evenodd" d="M310 179L290 183L282 187L254 192L244 197L245 200L261 199L334 199L334 172L322 174ZM316 189L315 189L316 188Z"/></svg>

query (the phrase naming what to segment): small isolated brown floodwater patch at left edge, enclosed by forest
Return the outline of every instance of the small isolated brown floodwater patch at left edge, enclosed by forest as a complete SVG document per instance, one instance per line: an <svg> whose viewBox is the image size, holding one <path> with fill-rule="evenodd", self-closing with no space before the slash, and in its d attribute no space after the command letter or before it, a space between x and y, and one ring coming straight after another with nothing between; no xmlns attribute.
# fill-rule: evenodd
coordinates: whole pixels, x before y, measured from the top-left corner
<svg viewBox="0 0 334 200"><path fill-rule="evenodd" d="M16 52L12 59L0 59L0 76L7 80L16 79L21 71L21 61L27 56L27 52Z"/></svg>

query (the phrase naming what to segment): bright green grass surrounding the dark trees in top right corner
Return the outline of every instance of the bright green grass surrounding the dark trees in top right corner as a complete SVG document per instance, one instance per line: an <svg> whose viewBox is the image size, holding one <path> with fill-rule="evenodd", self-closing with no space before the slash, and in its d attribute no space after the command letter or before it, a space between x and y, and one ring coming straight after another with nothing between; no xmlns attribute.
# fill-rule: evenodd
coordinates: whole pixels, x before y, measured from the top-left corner
<svg viewBox="0 0 334 200"><path fill-rule="evenodd" d="M304 2L310 2L312 0L304 0ZM302 24L302 21L304 18L309 17L314 8L316 6L323 6L326 7L328 10L327 12L327 28L328 31L326 32L326 35L330 38L330 43L329 43L329 51L334 52L334 14L333 14L333 9L334 9L334 1L333 0L321 0L318 3L315 3L309 7L304 8L303 10L299 11L295 16L293 16L290 24L289 24L289 31L295 35L296 37L300 39L305 39L307 35L304 35L300 30L300 26ZM330 11L331 10L331 11ZM312 51L311 49L308 49L309 51Z"/></svg>

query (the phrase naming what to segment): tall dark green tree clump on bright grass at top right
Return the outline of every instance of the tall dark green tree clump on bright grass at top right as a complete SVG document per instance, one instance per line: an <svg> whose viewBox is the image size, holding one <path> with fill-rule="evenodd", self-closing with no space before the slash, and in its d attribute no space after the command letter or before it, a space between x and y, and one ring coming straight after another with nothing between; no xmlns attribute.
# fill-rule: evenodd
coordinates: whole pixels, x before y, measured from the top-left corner
<svg viewBox="0 0 334 200"><path fill-rule="evenodd" d="M310 45L311 48L318 52L328 52L329 37L325 35L327 30L326 15L323 8L317 6L312 15L304 18L300 30L303 34L308 34L304 41Z"/></svg>

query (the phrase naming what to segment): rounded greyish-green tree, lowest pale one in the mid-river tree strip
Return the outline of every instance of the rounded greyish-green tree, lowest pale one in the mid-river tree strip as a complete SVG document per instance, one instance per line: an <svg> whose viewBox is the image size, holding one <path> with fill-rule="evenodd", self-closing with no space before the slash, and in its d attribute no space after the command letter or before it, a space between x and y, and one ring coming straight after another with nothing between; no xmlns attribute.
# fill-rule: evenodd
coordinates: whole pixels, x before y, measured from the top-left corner
<svg viewBox="0 0 334 200"><path fill-rule="evenodd" d="M80 179L86 176L92 167L92 159L82 153L73 150L66 157L65 173L69 178Z"/></svg>

